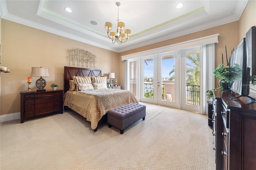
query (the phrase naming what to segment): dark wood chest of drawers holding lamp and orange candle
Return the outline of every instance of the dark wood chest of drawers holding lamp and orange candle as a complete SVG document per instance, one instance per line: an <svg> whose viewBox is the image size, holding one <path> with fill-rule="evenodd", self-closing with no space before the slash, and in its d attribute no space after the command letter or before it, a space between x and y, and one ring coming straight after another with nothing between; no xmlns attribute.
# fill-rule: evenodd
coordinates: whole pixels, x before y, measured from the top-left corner
<svg viewBox="0 0 256 170"><path fill-rule="evenodd" d="M63 113L63 90L20 92L20 123L28 118L55 112Z"/></svg>

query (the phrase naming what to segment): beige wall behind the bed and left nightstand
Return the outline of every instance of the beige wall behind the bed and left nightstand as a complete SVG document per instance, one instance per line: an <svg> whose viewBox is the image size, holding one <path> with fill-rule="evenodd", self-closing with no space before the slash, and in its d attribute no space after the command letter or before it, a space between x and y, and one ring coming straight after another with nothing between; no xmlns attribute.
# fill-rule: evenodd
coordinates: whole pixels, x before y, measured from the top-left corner
<svg viewBox="0 0 256 170"><path fill-rule="evenodd" d="M27 79L31 67L50 69L50 77L45 78L46 90L50 90L50 84L54 82L59 84L58 88L63 89L64 66L69 66L67 49L90 51L97 57L95 68L102 69L104 74L115 72L119 79L118 53L3 19L1 32L1 65L11 71L1 73L1 115L20 112L20 92L28 89ZM37 79L32 78L32 90L37 89Z"/></svg>

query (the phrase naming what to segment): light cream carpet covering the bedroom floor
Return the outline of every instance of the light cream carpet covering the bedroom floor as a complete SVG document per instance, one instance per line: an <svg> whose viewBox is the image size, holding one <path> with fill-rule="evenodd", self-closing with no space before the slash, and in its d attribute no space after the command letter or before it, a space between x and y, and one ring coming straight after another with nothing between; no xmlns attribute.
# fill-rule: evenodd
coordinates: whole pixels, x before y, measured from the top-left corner
<svg viewBox="0 0 256 170"><path fill-rule="evenodd" d="M146 105L120 134L103 124L97 132L71 111L1 123L1 170L214 170L208 117ZM70 113L69 113L70 112Z"/></svg>

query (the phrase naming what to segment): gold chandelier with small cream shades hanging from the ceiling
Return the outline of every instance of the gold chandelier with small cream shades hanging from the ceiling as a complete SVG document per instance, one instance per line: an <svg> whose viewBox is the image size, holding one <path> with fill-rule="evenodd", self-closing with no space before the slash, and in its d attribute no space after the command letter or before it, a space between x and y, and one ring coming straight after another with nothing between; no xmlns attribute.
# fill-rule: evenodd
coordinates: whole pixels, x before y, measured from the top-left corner
<svg viewBox="0 0 256 170"><path fill-rule="evenodd" d="M120 2L116 2L116 6L117 6L117 29L116 29L116 33L115 32L110 32L109 31L112 29L112 23L110 22L106 22L105 23L105 28L106 31L108 32L108 37L110 39L112 39L112 43L114 44L115 42L117 42L118 44L124 43L128 40L130 34L131 34L131 30L130 29L126 29L124 30L124 23L123 22L119 22L119 6L120 6ZM124 33L122 33L122 31L124 30Z"/></svg>

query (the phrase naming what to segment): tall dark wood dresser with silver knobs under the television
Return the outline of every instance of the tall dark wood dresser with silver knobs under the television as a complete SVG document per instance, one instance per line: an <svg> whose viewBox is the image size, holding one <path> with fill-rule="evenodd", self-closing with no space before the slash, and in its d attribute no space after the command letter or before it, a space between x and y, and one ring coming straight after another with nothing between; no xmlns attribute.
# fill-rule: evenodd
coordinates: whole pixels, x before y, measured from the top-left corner
<svg viewBox="0 0 256 170"><path fill-rule="evenodd" d="M256 102L230 90L214 91L216 170L256 167Z"/></svg>

